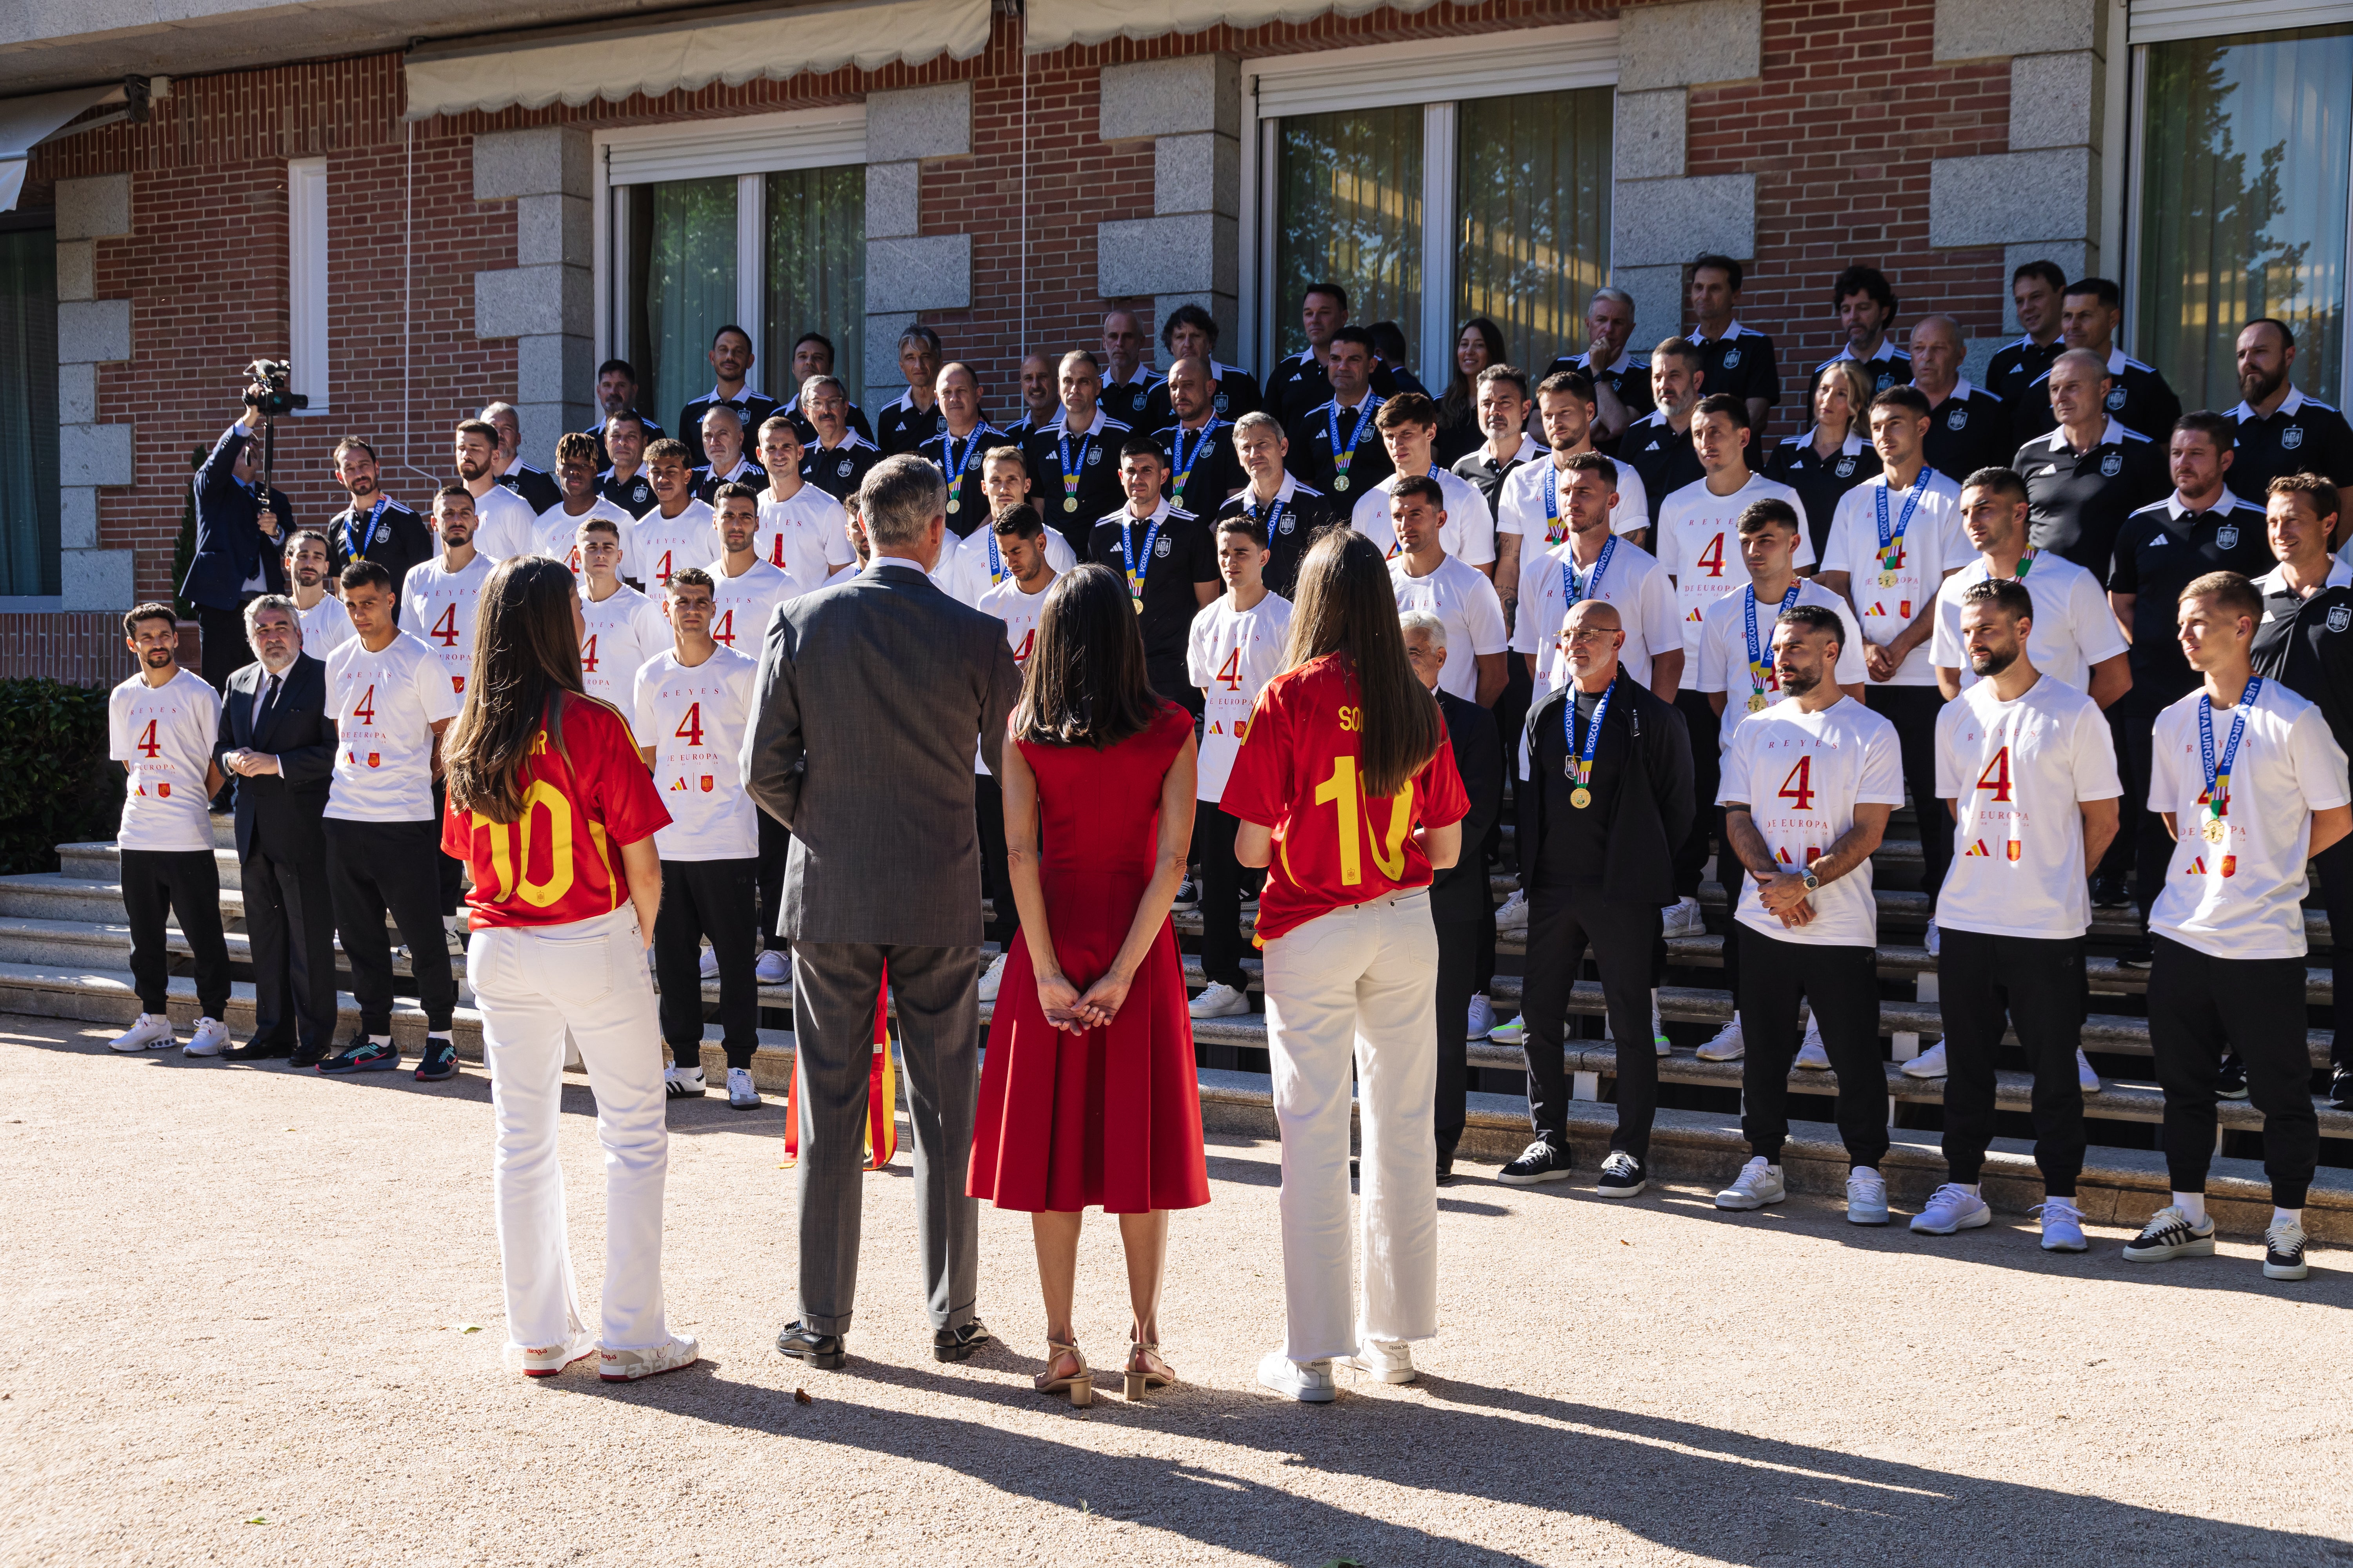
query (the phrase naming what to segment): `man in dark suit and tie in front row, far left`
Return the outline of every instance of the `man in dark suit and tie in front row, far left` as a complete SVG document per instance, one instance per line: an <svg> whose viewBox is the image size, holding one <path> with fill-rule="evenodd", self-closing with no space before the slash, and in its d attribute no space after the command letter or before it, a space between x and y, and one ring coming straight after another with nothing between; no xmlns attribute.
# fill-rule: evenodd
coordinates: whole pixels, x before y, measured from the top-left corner
<svg viewBox="0 0 2353 1568"><path fill-rule="evenodd" d="M301 651L294 602L282 595L245 607L245 637L259 663L228 677L212 745L233 780L254 947L254 1034L226 1056L315 1067L334 1051L334 905L320 827L334 769L327 665Z"/></svg>

